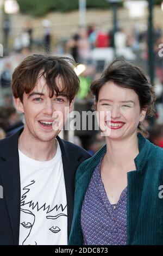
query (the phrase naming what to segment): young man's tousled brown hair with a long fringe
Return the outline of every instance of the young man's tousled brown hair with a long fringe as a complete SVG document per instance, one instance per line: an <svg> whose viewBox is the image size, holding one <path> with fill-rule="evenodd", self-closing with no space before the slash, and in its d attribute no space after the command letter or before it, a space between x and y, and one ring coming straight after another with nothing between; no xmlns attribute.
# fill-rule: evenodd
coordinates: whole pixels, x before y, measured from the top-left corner
<svg viewBox="0 0 163 256"><path fill-rule="evenodd" d="M17 66L12 74L12 92L15 98L20 98L23 102L23 93L30 93L38 79L43 76L49 88L50 96L54 92L67 96L70 102L79 91L79 78L74 72L76 62L67 57L45 56L43 54L33 54L24 59ZM63 83L60 91L56 78L60 77Z"/></svg>

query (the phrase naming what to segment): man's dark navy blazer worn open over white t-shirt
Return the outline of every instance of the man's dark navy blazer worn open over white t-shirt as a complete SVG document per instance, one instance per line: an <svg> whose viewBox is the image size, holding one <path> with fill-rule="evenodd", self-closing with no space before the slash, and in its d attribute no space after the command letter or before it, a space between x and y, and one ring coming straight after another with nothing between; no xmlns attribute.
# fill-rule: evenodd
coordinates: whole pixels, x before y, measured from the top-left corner
<svg viewBox="0 0 163 256"><path fill-rule="evenodd" d="M20 230L21 184L18 156L18 137L23 129L0 141L0 245L18 245ZM68 227L70 235L73 205L74 179L80 163L90 155L82 148L57 136L64 168ZM3 192L3 195L2 195Z"/></svg>

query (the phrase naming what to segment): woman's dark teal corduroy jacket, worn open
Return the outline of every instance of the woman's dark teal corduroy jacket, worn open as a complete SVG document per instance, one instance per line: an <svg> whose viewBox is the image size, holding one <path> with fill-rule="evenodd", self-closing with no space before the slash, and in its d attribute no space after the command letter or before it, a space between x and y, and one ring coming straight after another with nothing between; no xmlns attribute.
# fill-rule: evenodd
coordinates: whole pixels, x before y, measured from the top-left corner
<svg viewBox="0 0 163 256"><path fill-rule="evenodd" d="M127 245L163 245L163 149L140 133L136 170L127 173ZM82 203L106 145L78 167L69 245L82 245ZM98 230L97 230L98 232Z"/></svg>

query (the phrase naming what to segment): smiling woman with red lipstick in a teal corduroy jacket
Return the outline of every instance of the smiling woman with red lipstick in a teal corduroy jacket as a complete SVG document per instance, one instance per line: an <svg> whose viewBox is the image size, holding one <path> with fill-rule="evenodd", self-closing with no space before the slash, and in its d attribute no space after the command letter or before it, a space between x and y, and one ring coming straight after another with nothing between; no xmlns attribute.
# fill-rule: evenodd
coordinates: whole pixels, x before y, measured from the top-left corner
<svg viewBox="0 0 163 256"><path fill-rule="evenodd" d="M69 244L163 245L163 150L141 124L153 88L139 68L115 60L91 91L106 145L78 167Z"/></svg>

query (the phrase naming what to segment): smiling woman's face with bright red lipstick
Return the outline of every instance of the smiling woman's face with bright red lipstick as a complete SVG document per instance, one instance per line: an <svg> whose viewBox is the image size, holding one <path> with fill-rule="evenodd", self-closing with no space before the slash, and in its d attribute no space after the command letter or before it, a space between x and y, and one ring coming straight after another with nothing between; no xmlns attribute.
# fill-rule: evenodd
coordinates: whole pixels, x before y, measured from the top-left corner
<svg viewBox="0 0 163 256"><path fill-rule="evenodd" d="M99 90L96 107L101 117L99 127L104 131L105 126L107 133L104 134L116 140L136 134L139 122L146 115L146 110L140 109L139 97L134 90L121 88L113 82L106 82Z"/></svg>

